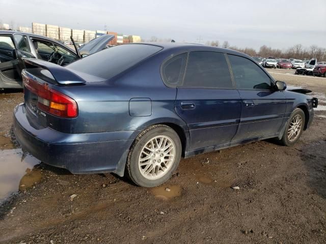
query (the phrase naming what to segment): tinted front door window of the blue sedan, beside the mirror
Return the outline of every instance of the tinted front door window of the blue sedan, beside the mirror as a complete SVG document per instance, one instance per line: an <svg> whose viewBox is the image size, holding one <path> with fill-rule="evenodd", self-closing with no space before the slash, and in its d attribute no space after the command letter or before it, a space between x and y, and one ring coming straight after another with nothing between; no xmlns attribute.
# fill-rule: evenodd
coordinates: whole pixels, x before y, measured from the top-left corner
<svg viewBox="0 0 326 244"><path fill-rule="evenodd" d="M251 60L228 55L234 80L239 89L269 89L271 81L262 69Z"/></svg>

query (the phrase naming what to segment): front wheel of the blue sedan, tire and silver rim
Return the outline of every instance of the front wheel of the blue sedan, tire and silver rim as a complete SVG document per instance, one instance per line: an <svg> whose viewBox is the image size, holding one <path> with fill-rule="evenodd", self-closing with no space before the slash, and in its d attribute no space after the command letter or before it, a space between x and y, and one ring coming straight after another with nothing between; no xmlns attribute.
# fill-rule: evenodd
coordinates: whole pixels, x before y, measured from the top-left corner
<svg viewBox="0 0 326 244"><path fill-rule="evenodd" d="M302 109L296 108L292 112L280 142L285 146L293 146L300 138L305 126L305 113Z"/></svg>

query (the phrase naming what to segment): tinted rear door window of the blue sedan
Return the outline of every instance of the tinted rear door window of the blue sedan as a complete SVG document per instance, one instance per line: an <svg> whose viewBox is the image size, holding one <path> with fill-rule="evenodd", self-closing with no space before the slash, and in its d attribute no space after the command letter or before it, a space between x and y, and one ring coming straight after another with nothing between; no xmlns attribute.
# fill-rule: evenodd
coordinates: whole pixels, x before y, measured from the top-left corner
<svg viewBox="0 0 326 244"><path fill-rule="evenodd" d="M189 53L185 87L233 88L229 66L223 53L195 51Z"/></svg>

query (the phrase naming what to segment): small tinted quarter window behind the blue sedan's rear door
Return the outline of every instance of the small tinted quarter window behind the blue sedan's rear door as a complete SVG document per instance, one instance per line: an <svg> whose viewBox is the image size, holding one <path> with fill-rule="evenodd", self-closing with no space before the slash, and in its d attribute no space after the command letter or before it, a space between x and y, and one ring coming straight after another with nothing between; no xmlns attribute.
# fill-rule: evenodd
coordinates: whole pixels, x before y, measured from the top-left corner
<svg viewBox="0 0 326 244"><path fill-rule="evenodd" d="M169 59L162 68L163 80L168 86L176 86L183 79L187 53Z"/></svg>

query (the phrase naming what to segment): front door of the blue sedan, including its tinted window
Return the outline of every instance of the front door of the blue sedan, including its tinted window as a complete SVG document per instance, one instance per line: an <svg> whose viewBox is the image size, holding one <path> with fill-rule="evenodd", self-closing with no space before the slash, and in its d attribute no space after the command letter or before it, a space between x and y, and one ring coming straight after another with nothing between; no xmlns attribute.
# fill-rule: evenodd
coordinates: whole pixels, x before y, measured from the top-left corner
<svg viewBox="0 0 326 244"><path fill-rule="evenodd" d="M270 77L252 60L228 54L241 97L241 121L232 141L275 135L283 122L286 98Z"/></svg>

